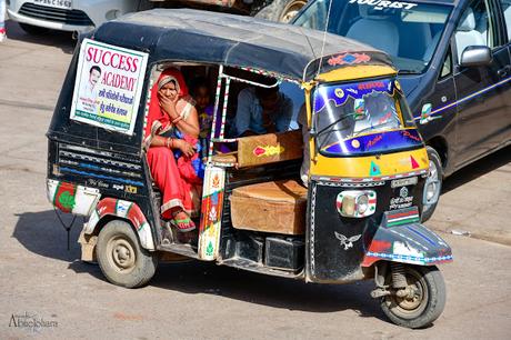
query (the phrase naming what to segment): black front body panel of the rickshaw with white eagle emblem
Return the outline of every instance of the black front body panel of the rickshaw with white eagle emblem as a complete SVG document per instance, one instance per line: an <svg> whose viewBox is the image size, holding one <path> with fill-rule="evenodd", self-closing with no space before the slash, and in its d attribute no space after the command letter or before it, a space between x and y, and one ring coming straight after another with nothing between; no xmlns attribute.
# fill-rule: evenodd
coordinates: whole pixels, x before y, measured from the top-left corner
<svg viewBox="0 0 511 340"><path fill-rule="evenodd" d="M384 211L390 210L391 199L400 198L401 188L407 188L407 204L422 209L422 192L425 179L418 183L391 188L391 180L371 182L363 187L348 183L312 182L310 190L309 229L307 233L307 278L314 282L352 281L363 277L360 267L369 244L374 237ZM335 207L337 196L344 190L374 190L377 208L365 218L342 217ZM404 207L400 207L404 208ZM347 238L341 241L337 236Z"/></svg>

